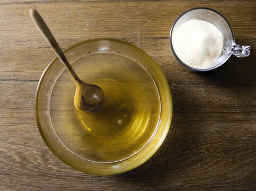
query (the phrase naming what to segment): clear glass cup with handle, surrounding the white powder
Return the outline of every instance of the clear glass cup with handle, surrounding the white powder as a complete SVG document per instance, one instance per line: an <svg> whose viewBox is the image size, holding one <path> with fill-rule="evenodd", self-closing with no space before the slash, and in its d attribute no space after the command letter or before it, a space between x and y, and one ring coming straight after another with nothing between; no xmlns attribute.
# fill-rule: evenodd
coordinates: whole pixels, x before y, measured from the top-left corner
<svg viewBox="0 0 256 191"><path fill-rule="evenodd" d="M223 37L223 48L222 48L221 54L219 55L219 58L207 68L194 68L182 62L181 59L175 53L175 50L172 44L173 34L179 28L179 26L185 23L186 21L193 20L193 19L207 21L213 24L221 32ZM235 44L234 33L232 31L232 28L230 27L230 24L224 18L224 16L222 16L217 11L212 10L211 8L205 8L205 7L192 8L184 12L183 14L181 14L175 20L170 31L170 46L171 46L172 55L174 56L176 61L179 64L181 64L181 66L184 66L185 68L191 71L210 71L224 64L232 54L237 57L246 57L246 56L249 56L250 54L250 46L241 46L241 45ZM186 47L184 47L184 49L185 48Z"/></svg>

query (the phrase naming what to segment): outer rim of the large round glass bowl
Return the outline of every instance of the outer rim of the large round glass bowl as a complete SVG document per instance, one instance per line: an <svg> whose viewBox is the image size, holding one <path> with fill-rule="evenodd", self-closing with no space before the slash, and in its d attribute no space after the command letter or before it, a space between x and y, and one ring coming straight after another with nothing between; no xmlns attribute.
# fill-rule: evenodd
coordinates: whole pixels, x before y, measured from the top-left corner
<svg viewBox="0 0 256 191"><path fill-rule="evenodd" d="M167 97L169 97L169 102L170 102L170 110L169 110L169 114L168 114L168 123L164 125L164 132L161 134L161 138L158 142L158 144L156 144L156 146L154 146L154 148L151 150L151 152L147 153L146 157L140 161L136 161L136 163L134 165L130 165L129 167L126 167L126 168L123 168L122 170L119 170L119 171L113 171L112 173L92 173L92 171L86 171L86 170L81 170L79 168L77 168L77 166L73 165L73 163L71 163L69 160L65 159L64 157L62 157L61 154L59 154L55 149L54 147L51 145L51 143L48 142L47 140L47 137L45 135L45 133L43 132L43 128L42 128L42 125L40 124L40 117L39 117L39 114L38 114L38 103L39 103L39 92L40 92L40 89L41 89L41 86L44 82L44 79L45 79L45 76L47 74L47 72L51 69L51 67L54 65L54 63L59 60L58 57L55 57L48 65L47 67L45 68L42 76L40 77L40 80L38 82L38 85L37 85L37 90L36 90L36 98L35 98L35 116L36 116L36 122L37 122L37 127L38 127L38 130L39 130L39 133L40 135L42 136L44 142L46 143L46 145L48 146L48 148L53 152L53 154L59 158L61 161L63 161L65 164L68 164L68 166L71 166L72 168L75 168L79 171L82 171L82 172L85 172L85 173L88 173L88 174L92 174L92 175L115 175L115 174L119 174L119 173L123 173L123 172L126 172L126 171L129 171L129 170L132 170L138 166L140 166L141 164L143 164L146 160L148 160L149 158L152 157L152 155L159 149L159 147L161 146L161 144L163 143L164 139L166 138L167 136L167 133L169 131L169 128L170 128L170 124L171 124L171 118L172 118L172 96L171 96L171 91L170 91L170 86L169 86L169 83L166 79L166 75L164 75L161 67L153 60L153 58L148 55L144 50L142 50L141 48L138 48L137 46L129 43L129 42L126 42L126 41L123 41L123 40L119 40L119 39L113 39L113 38L95 38L95 39L89 39L89 40L84 40L84 41L81 41L67 49L65 49L63 51L63 53L67 53L68 51L70 51L71 49L73 48L76 48L80 45L83 45L83 44L87 44L88 42L94 42L94 41L114 41L114 42L118 42L118 43L121 43L121 44L125 44L126 46L130 46L132 48L135 48L136 50L138 50L140 53L144 54L144 56L148 57L149 59L152 60L152 63L158 67L158 71L162 74L161 76L161 80L163 80L163 84L165 85L164 87L164 94L168 94ZM167 91L167 92L166 92ZM139 153L139 152L138 152ZM136 154L137 155L137 154ZM121 161L122 162L122 161ZM113 162L114 163L114 162Z"/></svg>

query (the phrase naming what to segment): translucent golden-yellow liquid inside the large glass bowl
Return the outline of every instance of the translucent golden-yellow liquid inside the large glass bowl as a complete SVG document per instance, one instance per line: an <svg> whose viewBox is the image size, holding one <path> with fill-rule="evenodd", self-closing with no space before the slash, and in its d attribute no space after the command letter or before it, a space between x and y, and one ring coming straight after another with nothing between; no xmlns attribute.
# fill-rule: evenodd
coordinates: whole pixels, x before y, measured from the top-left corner
<svg viewBox="0 0 256 191"><path fill-rule="evenodd" d="M127 159L151 141L160 117L159 92L135 60L117 53L95 53L72 64L81 80L100 86L103 105L79 112L76 85L64 70L53 87L50 116L60 141L74 154L95 162Z"/></svg>

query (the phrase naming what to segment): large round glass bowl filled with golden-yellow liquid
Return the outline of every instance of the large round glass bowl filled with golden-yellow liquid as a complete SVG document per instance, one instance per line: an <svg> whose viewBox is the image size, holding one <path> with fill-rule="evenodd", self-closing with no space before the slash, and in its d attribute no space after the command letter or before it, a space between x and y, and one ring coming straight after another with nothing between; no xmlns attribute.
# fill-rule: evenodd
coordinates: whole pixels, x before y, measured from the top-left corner
<svg viewBox="0 0 256 191"><path fill-rule="evenodd" d="M36 120L45 143L69 166L93 175L134 169L158 150L170 127L172 100L161 68L143 50L116 39L93 39L65 50L104 102L90 112L73 105L76 85L59 58L43 73Z"/></svg>

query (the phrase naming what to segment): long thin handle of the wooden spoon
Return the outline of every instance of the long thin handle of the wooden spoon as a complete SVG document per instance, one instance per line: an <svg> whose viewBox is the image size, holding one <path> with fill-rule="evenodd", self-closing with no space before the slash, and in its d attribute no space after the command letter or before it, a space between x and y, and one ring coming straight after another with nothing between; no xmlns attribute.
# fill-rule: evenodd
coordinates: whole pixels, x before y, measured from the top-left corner
<svg viewBox="0 0 256 191"><path fill-rule="evenodd" d="M34 21L35 25L37 26L38 30L43 34L44 38L47 40L49 45L53 48L56 55L60 58L61 62L67 67L69 73L72 75L73 79L77 82L80 81L79 77L73 71L73 68L69 64L68 59L65 57L63 51L61 50L60 46L57 44L57 41L53 37L52 32L47 27L46 23L44 22L43 18L39 15L39 13L35 9L31 9L29 11L31 19Z"/></svg>

